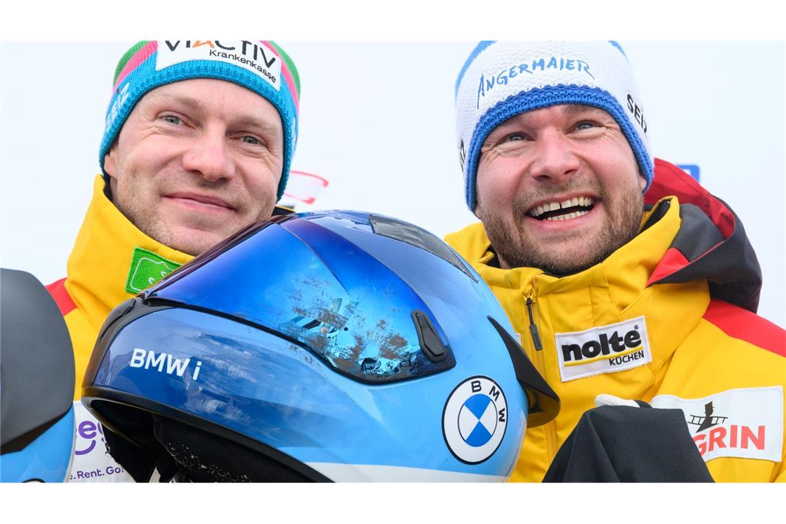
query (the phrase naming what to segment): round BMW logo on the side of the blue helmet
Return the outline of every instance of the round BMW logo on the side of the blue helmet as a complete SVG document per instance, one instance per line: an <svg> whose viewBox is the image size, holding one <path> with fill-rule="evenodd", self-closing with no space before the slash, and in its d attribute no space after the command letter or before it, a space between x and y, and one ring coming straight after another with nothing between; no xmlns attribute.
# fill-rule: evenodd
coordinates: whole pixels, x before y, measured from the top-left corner
<svg viewBox="0 0 786 524"><path fill-rule="evenodd" d="M461 462L479 464L497 451L508 424L502 388L485 376L473 376L450 394L443 412L443 434Z"/></svg>

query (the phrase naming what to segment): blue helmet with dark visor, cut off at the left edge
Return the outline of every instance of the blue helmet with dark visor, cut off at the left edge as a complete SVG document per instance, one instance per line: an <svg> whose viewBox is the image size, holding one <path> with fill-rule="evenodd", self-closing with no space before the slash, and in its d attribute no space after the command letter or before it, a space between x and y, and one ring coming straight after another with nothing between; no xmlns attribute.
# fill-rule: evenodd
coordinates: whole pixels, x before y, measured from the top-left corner
<svg viewBox="0 0 786 524"><path fill-rule="evenodd" d="M0 289L0 478L67 481L75 442L68 328L30 273L0 269Z"/></svg>

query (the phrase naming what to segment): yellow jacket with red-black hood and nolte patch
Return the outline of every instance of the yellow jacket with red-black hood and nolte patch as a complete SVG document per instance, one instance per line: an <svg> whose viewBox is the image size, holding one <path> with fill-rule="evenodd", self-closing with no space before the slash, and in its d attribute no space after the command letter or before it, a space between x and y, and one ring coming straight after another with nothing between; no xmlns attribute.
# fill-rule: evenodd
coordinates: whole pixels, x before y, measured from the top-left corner
<svg viewBox="0 0 786 524"><path fill-rule="evenodd" d="M646 200L656 198L638 236L567 277L500 269L480 223L446 236L562 402L556 420L527 429L513 481L541 481L603 393L682 409L718 482L786 480L786 333L751 312L761 280L744 229L660 160Z"/></svg>

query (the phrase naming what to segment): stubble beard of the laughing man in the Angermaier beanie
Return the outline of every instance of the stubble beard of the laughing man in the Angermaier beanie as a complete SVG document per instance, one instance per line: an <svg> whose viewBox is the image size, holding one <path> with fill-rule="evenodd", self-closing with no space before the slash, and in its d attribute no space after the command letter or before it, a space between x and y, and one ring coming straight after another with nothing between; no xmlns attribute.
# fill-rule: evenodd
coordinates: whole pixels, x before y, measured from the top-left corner
<svg viewBox="0 0 786 524"><path fill-rule="evenodd" d="M593 193L599 196L604 203L609 219L600 235L592 241L592 244L588 244L586 250L578 256L571 252L560 253L556 249L551 249L549 245L538 245L528 239L518 227L511 230L498 215L487 209L483 201L479 199L478 218L483 222L491 246L500 261L511 268L533 267L561 277L595 266L612 255L619 247L630 242L639 232L641 217L644 213L644 198L641 189L637 185L631 186L631 190L626 192L618 203L610 207L611 199L605 188L597 181L593 183L593 186ZM559 192L564 193L570 190L570 187L562 187ZM557 194L557 192L553 192L553 194ZM547 198L549 198L548 194L531 196L528 201L534 202ZM513 206L516 225L529 219L525 212L530 204L518 201ZM562 236L560 240L569 238L571 238L571 233ZM586 239L571 241L586 242Z"/></svg>

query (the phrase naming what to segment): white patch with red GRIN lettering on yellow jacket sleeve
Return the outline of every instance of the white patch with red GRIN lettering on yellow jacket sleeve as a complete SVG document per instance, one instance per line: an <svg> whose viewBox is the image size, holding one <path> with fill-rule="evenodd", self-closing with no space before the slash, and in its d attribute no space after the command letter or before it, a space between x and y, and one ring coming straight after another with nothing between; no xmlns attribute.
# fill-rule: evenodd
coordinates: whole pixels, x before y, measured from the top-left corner
<svg viewBox="0 0 786 524"><path fill-rule="evenodd" d="M783 387L727 390L705 398L658 395L653 408L681 409L704 462L720 456L780 462Z"/></svg>

